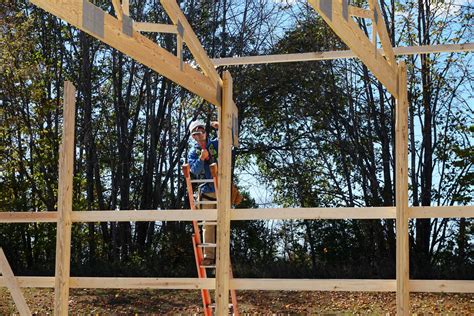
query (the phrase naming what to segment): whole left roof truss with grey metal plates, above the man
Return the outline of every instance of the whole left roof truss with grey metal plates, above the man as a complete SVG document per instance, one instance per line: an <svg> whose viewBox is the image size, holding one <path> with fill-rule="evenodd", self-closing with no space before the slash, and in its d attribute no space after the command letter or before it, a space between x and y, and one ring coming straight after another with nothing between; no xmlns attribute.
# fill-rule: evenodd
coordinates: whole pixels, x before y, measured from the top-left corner
<svg viewBox="0 0 474 316"><path fill-rule="evenodd" d="M222 80L193 29L175 0L161 0L173 25L135 22L128 15L128 1L112 4L117 17L111 16L88 0L31 0L40 8L56 15L78 29L132 57L171 81L220 106ZM154 43L139 31L169 32L178 37L178 56ZM202 72L183 61L182 43L186 43Z"/></svg>

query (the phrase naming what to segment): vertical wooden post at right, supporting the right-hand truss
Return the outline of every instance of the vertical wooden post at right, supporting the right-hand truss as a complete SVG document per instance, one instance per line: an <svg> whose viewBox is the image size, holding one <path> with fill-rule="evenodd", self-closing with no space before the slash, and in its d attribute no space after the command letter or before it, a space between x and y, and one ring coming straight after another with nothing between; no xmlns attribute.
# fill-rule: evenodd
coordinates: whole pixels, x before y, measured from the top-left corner
<svg viewBox="0 0 474 316"><path fill-rule="evenodd" d="M397 314L410 313L410 258L408 240L408 93L405 62L398 66L398 99L395 122L397 209Z"/></svg>

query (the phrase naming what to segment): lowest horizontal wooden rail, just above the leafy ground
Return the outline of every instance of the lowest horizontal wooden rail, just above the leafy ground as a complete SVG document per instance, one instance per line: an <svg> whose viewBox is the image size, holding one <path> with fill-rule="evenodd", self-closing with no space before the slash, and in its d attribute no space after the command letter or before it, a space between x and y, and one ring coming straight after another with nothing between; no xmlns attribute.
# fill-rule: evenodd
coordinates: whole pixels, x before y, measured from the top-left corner
<svg viewBox="0 0 474 316"><path fill-rule="evenodd" d="M16 277L22 288L52 288L53 277ZM0 287L5 287L0 276ZM215 289L215 279L197 278L104 278L71 277L71 288L97 289ZM232 279L230 288L236 290L297 291L376 291L395 292L396 280L374 279ZM473 280L410 280L411 292L474 293Z"/></svg>

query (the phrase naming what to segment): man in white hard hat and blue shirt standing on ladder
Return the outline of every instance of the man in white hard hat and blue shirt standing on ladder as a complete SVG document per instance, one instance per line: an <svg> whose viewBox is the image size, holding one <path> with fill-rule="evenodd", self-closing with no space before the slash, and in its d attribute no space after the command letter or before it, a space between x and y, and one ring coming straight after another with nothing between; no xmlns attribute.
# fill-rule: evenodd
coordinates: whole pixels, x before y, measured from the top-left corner
<svg viewBox="0 0 474 316"><path fill-rule="evenodd" d="M219 128L219 123L211 122L211 126L215 129ZM193 149L189 153L188 163L194 176L204 179L212 179L210 165L217 162L219 142L217 139L211 140L206 132L206 125L197 120L193 121L189 126L192 138L195 140ZM204 183L199 186L197 208L209 209L216 208L216 191L214 184ZM203 243L215 244L216 242L216 226L205 225L203 227ZM203 266L215 265L216 248L204 248Z"/></svg>

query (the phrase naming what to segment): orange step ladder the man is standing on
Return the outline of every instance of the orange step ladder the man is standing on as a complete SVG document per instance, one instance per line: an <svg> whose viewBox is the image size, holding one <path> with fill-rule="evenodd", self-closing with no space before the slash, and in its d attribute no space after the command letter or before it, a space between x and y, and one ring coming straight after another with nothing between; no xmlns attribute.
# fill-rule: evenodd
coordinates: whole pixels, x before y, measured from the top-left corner
<svg viewBox="0 0 474 316"><path fill-rule="evenodd" d="M188 190L188 198L189 198L189 206L191 207L191 210L196 210L196 201L194 200L194 191L193 191L193 184L202 184L202 183L214 183L214 188L217 191L218 188L218 179L217 179L217 164L213 163L210 165L211 169L211 175L212 179L199 179L199 180L191 180L191 170L189 164L184 164L182 166L183 174L186 179L186 187ZM217 209L217 201L209 201L208 203L204 203L208 201L200 201L200 204L215 204L216 209ZM216 266L204 266L202 264L202 261L204 259L203 255L203 248L206 247L216 247L216 244L207 244L207 243L202 243L201 242L201 235L200 235L200 229L199 226L204 226L204 225L217 225L217 222L198 222L198 221L193 221L193 229L194 229L194 234L192 236L193 240L193 248L194 248L194 258L196 260L196 268L198 272L198 277L200 279L205 279L207 278L207 273L206 269L215 269ZM230 270L230 277L232 278L232 267L229 267ZM233 314L238 316L239 311L237 308L237 295L235 293L235 290L230 290L230 296L232 300L232 311ZM213 314L212 312L212 300L211 300L211 294L209 293L208 289L201 289L201 297L202 297L202 304L204 307L204 315L206 316L211 316Z"/></svg>

